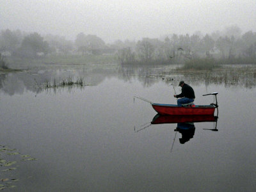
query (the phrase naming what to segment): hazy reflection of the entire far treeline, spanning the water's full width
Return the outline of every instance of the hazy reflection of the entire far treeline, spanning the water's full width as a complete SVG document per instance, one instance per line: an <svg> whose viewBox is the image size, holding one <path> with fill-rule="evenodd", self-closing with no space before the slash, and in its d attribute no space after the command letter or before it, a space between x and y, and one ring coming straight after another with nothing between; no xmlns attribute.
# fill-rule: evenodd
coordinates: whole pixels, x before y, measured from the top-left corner
<svg viewBox="0 0 256 192"><path fill-rule="evenodd" d="M33 69L23 72L10 74L0 74L0 92L13 95L22 94L29 90L38 92L37 84L43 84L46 81L65 78L83 78L85 84L97 85L108 77L118 77L124 81L137 79L143 86L152 86L159 81L170 84L172 79L174 84L178 84L180 79L198 85L204 83L206 86L211 84L224 84L225 87L245 87L253 88L256 86L256 67L250 65L247 67L237 67L229 65L218 70L196 72L182 72L176 70L176 65L110 65L94 66L88 68L48 68Z"/></svg>

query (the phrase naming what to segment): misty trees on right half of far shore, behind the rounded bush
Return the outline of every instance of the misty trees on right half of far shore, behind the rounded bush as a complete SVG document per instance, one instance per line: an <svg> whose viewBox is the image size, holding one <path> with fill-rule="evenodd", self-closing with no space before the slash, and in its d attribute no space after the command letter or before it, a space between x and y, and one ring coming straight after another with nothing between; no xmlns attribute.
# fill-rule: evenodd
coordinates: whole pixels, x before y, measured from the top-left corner
<svg viewBox="0 0 256 192"><path fill-rule="evenodd" d="M256 33L244 34L238 27L211 35L170 35L163 40L143 38L134 46L118 51L120 63L186 63L198 58L214 58L221 64L255 63Z"/></svg>

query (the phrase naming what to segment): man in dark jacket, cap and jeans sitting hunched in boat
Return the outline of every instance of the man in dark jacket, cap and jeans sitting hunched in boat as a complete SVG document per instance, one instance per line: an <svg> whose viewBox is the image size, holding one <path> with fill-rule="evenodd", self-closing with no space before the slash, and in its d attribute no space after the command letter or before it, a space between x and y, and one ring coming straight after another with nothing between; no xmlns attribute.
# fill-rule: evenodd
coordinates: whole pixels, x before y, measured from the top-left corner
<svg viewBox="0 0 256 192"><path fill-rule="evenodd" d="M187 104L189 102L194 102L195 100L195 92L191 86L184 83L184 81L180 81L179 86L181 86L181 93L179 95L173 95L176 98L182 97L177 100L178 106L182 106L182 104Z"/></svg>

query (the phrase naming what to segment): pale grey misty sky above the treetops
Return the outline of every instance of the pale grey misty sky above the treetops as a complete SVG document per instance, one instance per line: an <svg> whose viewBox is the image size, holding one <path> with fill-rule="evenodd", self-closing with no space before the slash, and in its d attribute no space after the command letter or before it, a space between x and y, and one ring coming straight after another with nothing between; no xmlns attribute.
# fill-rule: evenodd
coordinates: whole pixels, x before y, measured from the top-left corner
<svg viewBox="0 0 256 192"><path fill-rule="evenodd" d="M256 31L256 0L0 0L0 30L70 40L80 32L113 42L211 33L229 26Z"/></svg>

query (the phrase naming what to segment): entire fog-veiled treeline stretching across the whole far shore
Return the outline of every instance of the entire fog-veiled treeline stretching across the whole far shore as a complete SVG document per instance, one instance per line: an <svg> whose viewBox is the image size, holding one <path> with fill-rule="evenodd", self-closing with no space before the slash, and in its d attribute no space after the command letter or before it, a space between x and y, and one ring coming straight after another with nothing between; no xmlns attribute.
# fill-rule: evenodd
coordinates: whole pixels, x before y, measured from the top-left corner
<svg viewBox="0 0 256 192"><path fill-rule="evenodd" d="M79 33L76 40L64 36L3 30L0 33L2 56L40 58L57 55L118 55L122 64L184 63L195 58L214 58L220 63L256 63L256 33L242 33L237 26L202 35L166 35L163 38L117 40L106 44L97 35Z"/></svg>

